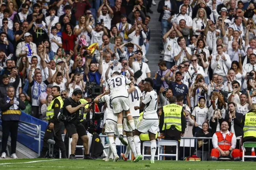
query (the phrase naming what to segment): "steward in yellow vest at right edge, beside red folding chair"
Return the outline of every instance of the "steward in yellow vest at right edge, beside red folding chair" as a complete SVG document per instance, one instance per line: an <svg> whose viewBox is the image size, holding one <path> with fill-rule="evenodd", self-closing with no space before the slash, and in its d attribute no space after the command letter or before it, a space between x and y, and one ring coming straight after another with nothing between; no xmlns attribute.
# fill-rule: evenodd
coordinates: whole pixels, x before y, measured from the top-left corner
<svg viewBox="0 0 256 170"><path fill-rule="evenodd" d="M251 110L244 115L241 124L244 132L242 143L256 142L256 104L252 104ZM245 150L245 155L255 156L255 152L252 151L252 148L246 147Z"/></svg>

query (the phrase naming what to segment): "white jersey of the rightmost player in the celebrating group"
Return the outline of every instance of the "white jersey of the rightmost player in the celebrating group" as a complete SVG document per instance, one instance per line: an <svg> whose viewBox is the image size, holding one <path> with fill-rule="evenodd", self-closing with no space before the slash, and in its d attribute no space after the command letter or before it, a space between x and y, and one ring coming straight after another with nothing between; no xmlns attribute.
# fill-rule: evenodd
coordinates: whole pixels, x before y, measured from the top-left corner
<svg viewBox="0 0 256 170"><path fill-rule="evenodd" d="M143 119L158 119L157 116L157 92L154 90L146 92L142 103L145 104Z"/></svg>

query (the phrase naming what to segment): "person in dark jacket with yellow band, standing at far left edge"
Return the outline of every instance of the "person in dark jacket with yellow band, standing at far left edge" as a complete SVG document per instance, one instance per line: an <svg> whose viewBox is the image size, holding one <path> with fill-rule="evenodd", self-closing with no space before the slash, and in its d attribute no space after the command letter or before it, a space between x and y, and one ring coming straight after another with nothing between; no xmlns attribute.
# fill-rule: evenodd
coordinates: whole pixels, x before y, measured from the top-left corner
<svg viewBox="0 0 256 170"><path fill-rule="evenodd" d="M19 79L19 77L18 77ZM7 95L0 99L0 108L2 111L2 155L1 158L6 156L6 147L9 134L11 133L11 158L18 158L16 156L16 141L18 135L19 116L20 110L26 108L25 104L19 98L15 98L15 87L7 87Z"/></svg>

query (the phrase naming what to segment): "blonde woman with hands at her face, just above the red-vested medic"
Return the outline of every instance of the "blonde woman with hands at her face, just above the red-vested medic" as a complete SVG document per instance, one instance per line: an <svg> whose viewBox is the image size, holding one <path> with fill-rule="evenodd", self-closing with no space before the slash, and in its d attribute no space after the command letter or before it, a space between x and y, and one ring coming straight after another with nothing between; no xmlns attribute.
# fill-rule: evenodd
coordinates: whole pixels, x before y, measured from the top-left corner
<svg viewBox="0 0 256 170"><path fill-rule="evenodd" d="M221 130L221 122L223 121L222 112L220 109L214 110L213 116L210 119L210 127L213 133Z"/></svg>

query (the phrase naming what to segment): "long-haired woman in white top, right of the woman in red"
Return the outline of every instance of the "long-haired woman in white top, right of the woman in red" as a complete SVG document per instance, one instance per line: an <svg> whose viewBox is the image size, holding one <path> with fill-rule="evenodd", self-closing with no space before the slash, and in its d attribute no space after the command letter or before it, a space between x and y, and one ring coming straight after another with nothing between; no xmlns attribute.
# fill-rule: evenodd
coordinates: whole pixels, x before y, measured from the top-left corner
<svg viewBox="0 0 256 170"><path fill-rule="evenodd" d="M74 28L74 34L78 36L78 40L80 39L81 35L85 35L87 43L91 44L91 38L88 35L88 32L86 30L85 26L86 16L80 16L78 19L78 25ZM91 23L91 22L90 22Z"/></svg>

